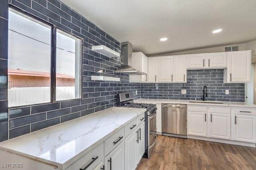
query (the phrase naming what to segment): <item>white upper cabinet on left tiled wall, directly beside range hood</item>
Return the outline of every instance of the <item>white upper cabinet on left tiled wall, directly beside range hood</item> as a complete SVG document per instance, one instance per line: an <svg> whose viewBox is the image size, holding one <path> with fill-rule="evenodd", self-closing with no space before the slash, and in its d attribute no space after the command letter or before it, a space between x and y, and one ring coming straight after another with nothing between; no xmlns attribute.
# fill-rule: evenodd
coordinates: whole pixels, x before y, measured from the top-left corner
<svg viewBox="0 0 256 170"><path fill-rule="evenodd" d="M132 67L148 74L148 57L142 52L132 53ZM148 75L130 75L130 83L147 82Z"/></svg>

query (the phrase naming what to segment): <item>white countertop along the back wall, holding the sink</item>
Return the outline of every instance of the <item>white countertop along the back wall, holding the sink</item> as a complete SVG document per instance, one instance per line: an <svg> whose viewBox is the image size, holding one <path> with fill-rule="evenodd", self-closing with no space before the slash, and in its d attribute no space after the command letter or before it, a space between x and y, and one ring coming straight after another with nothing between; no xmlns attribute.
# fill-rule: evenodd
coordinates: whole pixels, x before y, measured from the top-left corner
<svg viewBox="0 0 256 170"><path fill-rule="evenodd" d="M189 100L168 100L168 99L138 99L135 100L134 103L173 103L173 104L184 104L184 105L210 105L210 106L229 106L229 107L252 107L256 108L256 105L246 103L246 102L225 102L220 101L221 103L216 103L219 101L197 101L198 103L194 103L194 101L190 102ZM212 103L207 103L212 102ZM214 103L215 102L215 103Z"/></svg>

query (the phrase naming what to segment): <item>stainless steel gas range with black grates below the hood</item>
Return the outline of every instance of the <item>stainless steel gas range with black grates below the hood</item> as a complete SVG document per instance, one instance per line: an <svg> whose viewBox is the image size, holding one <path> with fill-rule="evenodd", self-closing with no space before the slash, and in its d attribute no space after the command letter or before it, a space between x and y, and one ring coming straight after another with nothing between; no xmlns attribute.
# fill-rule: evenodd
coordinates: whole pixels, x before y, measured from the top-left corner
<svg viewBox="0 0 256 170"><path fill-rule="evenodd" d="M118 106L131 108L144 108L145 112L145 153L149 158L156 145L156 105L148 103L133 103L133 93L120 93L117 95Z"/></svg>

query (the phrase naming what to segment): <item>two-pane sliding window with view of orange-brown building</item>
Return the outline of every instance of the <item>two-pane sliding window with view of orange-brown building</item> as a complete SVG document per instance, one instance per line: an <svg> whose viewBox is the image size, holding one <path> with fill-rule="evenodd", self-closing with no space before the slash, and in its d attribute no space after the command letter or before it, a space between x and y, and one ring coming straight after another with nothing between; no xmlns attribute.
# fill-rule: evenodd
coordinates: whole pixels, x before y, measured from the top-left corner
<svg viewBox="0 0 256 170"><path fill-rule="evenodd" d="M9 107L80 98L82 40L12 9L8 23Z"/></svg>

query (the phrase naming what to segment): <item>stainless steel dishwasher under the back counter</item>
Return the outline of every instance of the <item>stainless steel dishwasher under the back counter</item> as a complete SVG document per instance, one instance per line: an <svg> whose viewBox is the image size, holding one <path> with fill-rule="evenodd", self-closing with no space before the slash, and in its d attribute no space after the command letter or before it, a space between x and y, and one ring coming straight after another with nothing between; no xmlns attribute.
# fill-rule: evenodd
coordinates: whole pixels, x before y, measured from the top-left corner
<svg viewBox="0 0 256 170"><path fill-rule="evenodd" d="M162 103L162 135L187 138L187 105Z"/></svg>

